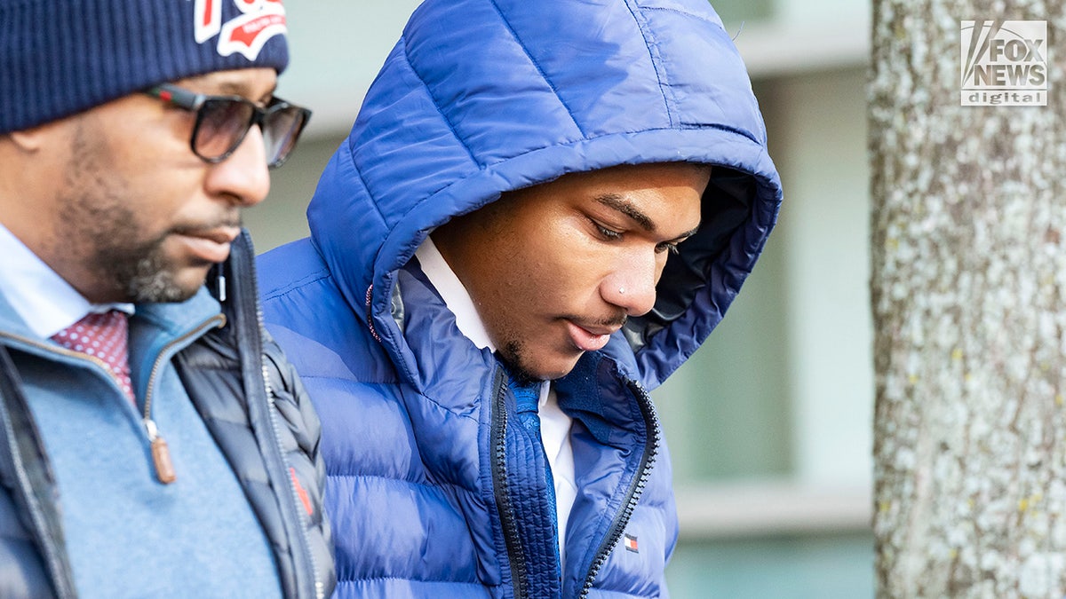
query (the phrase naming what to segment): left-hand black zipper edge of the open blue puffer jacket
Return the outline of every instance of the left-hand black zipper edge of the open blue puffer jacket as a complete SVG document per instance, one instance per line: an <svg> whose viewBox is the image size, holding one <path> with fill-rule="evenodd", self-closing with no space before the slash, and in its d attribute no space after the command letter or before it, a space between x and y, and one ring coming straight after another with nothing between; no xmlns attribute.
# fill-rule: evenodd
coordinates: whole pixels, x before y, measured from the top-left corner
<svg viewBox="0 0 1066 599"><path fill-rule="evenodd" d="M500 514L500 528L503 529L503 541L507 548L507 558L511 562L511 580L515 586L515 599L522 599L527 590L526 555L522 553L521 541L518 538L518 524L511 507L511 496L507 495L507 385L503 378L503 370L496 369L495 381L496 401L492 402L492 491L496 495L496 508Z"/></svg>

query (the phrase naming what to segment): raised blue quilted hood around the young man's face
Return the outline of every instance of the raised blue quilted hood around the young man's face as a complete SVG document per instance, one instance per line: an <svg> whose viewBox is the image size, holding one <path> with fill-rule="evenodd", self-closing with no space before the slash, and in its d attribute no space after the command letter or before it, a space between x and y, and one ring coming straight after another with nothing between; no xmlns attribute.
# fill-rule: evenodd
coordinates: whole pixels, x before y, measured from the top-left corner
<svg viewBox="0 0 1066 599"><path fill-rule="evenodd" d="M713 173L699 232L624 331L650 389L721 321L781 198L747 72L706 0L423 2L323 173L311 239L405 360L395 271L435 227L566 173L673 161Z"/></svg>

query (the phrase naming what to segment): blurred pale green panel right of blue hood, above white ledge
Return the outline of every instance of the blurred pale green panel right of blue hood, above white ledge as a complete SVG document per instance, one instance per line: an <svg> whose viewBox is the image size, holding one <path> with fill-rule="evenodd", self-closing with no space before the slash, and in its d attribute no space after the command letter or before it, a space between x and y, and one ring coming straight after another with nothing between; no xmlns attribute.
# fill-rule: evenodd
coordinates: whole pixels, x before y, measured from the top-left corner
<svg viewBox="0 0 1066 599"><path fill-rule="evenodd" d="M722 324L652 392L679 483L792 469L784 252L771 236Z"/></svg>

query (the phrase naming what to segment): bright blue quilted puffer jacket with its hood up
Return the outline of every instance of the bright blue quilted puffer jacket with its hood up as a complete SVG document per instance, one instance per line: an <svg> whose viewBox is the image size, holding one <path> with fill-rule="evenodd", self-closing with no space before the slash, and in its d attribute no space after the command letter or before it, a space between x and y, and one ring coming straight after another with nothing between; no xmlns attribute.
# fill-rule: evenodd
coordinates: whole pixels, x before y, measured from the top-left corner
<svg viewBox="0 0 1066 599"><path fill-rule="evenodd" d="M580 487L560 576L531 541L500 368L403 266L501 192L665 161L714 165L702 225L655 309L555 383ZM260 258L268 326L322 417L336 596L665 596L677 520L648 390L722 319L780 196L705 0L424 2L326 166L311 237Z"/></svg>

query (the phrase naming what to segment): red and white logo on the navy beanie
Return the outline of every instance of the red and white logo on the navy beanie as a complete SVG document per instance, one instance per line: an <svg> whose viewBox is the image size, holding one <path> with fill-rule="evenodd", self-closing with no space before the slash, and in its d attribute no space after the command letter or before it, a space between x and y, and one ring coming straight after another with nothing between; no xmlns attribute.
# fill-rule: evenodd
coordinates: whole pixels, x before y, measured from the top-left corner
<svg viewBox="0 0 1066 599"><path fill-rule="evenodd" d="M240 15L222 22L222 4L232 2ZM240 52L256 60L266 41L288 31L281 0L196 0L196 43L219 35L219 54Z"/></svg>

